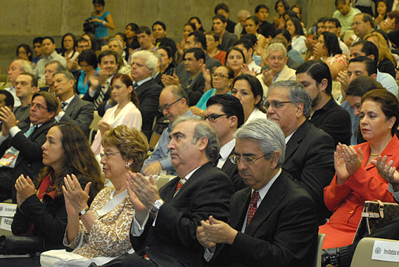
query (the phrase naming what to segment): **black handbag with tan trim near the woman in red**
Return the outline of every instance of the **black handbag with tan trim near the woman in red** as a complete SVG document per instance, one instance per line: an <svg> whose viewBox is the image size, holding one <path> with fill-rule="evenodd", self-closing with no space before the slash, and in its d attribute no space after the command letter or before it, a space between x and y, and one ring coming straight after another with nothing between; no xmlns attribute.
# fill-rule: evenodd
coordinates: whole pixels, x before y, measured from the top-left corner
<svg viewBox="0 0 399 267"><path fill-rule="evenodd" d="M367 237L374 230L399 216L399 205L396 203L381 202L380 200L365 201L359 226L353 238L353 242Z"/></svg>

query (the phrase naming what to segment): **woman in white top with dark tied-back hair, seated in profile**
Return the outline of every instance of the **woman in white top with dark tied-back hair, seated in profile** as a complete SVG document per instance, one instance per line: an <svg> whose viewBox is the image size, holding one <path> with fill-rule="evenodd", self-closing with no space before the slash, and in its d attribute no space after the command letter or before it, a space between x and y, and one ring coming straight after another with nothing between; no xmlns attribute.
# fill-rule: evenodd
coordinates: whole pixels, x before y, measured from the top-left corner
<svg viewBox="0 0 399 267"><path fill-rule="evenodd" d="M96 156L103 152L101 140L106 131L121 124L141 130L141 113L137 108L139 100L137 100L136 92L133 91L132 78L125 74L116 74L111 79L110 85L111 96L118 104L108 109L99 122L99 130L91 144L91 150Z"/></svg>

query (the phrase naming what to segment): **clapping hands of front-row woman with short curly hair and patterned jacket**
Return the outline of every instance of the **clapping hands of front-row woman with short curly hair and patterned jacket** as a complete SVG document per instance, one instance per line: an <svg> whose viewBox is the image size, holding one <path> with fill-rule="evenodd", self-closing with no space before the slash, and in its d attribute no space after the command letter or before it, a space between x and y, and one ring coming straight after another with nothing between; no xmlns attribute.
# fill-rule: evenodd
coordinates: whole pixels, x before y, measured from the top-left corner
<svg viewBox="0 0 399 267"><path fill-rule="evenodd" d="M91 183L87 183L86 188L82 190L82 188L80 187L80 183L79 181L77 181L77 178L74 174L72 174L72 176L69 176L69 174L67 174L67 176L64 177L64 183L64 197L68 199L70 205L75 209L75 212L77 214L79 214L82 209L86 209L87 207L89 207L89 205L87 205L87 200L89 200L89 190ZM74 215L72 211L71 214Z"/></svg>

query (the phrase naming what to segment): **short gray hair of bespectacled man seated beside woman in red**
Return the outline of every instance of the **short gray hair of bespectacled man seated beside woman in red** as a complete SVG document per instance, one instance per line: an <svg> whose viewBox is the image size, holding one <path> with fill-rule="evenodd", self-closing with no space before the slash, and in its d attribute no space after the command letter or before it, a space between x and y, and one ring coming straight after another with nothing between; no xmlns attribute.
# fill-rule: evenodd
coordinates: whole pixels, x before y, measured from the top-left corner
<svg viewBox="0 0 399 267"><path fill-rule="evenodd" d="M310 118L310 115L312 115L312 99L302 84L296 81L274 82L274 84L269 87L267 96L269 96L270 91L273 89L289 90L289 100L291 104L296 105L298 103L303 103L303 115L305 115L306 119Z"/></svg>

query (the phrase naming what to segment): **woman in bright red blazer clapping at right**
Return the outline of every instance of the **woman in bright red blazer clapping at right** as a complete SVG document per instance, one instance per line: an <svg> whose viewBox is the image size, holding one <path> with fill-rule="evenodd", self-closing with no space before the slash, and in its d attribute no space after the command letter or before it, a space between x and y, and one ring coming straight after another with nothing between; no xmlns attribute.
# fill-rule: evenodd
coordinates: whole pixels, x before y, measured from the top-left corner
<svg viewBox="0 0 399 267"><path fill-rule="evenodd" d="M324 202L334 214L319 227L319 233L326 234L323 248L352 244L365 200L395 202L388 183L370 162L386 155L399 168L398 116L398 98L386 89L362 97L360 129L367 143L354 147L339 143L334 152L336 175L324 188Z"/></svg>

